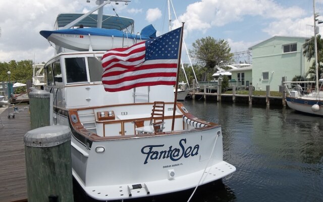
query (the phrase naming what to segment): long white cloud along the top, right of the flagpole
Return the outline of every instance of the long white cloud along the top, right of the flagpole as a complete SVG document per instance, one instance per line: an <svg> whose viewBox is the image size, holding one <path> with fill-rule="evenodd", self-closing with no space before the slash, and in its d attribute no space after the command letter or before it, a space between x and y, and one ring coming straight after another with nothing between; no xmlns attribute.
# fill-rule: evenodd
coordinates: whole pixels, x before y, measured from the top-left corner
<svg viewBox="0 0 323 202"><path fill-rule="evenodd" d="M243 3L241 0L202 0L190 4L179 21L185 22L187 31L199 30L205 33L214 26L238 23L248 16L275 20L296 19L302 13L301 8L284 8L272 0L244 0Z"/></svg>

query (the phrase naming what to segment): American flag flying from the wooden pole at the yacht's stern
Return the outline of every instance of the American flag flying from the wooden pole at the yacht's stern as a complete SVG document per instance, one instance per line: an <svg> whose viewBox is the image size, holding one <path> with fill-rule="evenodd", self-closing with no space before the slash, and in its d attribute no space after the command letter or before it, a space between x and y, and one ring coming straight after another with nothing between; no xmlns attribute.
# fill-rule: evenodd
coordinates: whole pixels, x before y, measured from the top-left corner
<svg viewBox="0 0 323 202"><path fill-rule="evenodd" d="M102 57L105 91L139 86L175 85L182 27L127 48L115 48Z"/></svg>

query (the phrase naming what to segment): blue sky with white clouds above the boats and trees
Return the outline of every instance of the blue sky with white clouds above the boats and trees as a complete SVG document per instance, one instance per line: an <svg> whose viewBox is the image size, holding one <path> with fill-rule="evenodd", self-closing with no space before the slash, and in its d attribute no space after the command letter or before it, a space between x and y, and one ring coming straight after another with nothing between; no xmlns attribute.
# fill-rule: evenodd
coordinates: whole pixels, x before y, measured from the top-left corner
<svg viewBox="0 0 323 202"><path fill-rule="evenodd" d="M275 35L313 36L312 0L171 0L171 4L172 28L178 27L176 18L180 24L185 22L187 49L207 36L227 40L231 53L247 51ZM53 30L60 13L86 13L95 6L95 0L0 1L0 62L46 62L55 52L39 31ZM169 30L167 0L132 0L128 5L111 2L103 13L134 19L135 33L149 24L157 35ZM323 15L323 0L316 1L316 13ZM189 62L188 55L182 55L182 60Z"/></svg>

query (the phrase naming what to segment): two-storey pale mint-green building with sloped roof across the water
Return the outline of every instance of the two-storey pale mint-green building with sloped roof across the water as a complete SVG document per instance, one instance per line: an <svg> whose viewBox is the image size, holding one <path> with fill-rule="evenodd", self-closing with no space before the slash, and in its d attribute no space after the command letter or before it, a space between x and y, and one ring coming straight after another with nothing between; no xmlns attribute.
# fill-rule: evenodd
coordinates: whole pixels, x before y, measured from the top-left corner
<svg viewBox="0 0 323 202"><path fill-rule="evenodd" d="M255 90L279 91L282 77L291 81L295 75L305 75L311 62L303 56L307 37L274 36L248 49L252 50L252 85Z"/></svg>

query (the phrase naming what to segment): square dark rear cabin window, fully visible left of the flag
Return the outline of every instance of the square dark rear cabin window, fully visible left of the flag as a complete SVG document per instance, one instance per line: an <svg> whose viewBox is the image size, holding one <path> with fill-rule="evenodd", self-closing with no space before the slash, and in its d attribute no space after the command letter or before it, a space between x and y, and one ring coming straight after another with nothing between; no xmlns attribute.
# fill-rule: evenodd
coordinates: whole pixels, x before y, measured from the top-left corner
<svg viewBox="0 0 323 202"><path fill-rule="evenodd" d="M65 66L68 83L87 81L85 58L66 58Z"/></svg>

